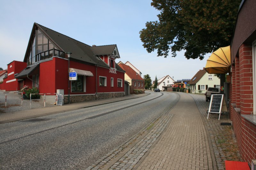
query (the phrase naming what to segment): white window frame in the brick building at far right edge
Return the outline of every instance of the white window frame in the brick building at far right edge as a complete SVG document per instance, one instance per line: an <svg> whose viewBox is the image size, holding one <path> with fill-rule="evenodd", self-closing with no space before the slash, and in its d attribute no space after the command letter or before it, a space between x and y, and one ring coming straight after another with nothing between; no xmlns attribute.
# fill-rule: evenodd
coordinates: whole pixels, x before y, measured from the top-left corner
<svg viewBox="0 0 256 170"><path fill-rule="evenodd" d="M252 43L252 99L253 99L253 115L256 115L256 40Z"/></svg>

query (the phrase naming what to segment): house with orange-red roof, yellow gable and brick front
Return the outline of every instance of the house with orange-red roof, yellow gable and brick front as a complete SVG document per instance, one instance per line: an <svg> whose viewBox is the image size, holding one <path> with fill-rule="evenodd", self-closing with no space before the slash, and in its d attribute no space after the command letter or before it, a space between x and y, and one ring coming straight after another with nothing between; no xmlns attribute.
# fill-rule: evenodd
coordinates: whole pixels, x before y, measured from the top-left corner
<svg viewBox="0 0 256 170"><path fill-rule="evenodd" d="M118 65L125 71L124 80L130 83L131 90L141 90L142 93L145 93L144 89L144 79L138 74L132 67L119 62Z"/></svg>

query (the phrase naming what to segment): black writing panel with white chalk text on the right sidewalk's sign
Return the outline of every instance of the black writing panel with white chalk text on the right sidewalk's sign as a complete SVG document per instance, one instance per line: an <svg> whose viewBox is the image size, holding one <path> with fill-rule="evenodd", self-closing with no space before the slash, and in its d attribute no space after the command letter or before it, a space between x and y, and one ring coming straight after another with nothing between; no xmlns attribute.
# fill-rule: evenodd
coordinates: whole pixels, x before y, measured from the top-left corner
<svg viewBox="0 0 256 170"><path fill-rule="evenodd" d="M220 113L222 106L223 95L212 95L209 106L210 113Z"/></svg>

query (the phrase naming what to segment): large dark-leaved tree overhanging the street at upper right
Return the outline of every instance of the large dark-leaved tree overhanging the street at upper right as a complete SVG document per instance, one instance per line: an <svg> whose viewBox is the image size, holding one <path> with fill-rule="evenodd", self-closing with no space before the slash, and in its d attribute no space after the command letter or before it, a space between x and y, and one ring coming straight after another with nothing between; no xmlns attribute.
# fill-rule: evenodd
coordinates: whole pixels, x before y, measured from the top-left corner
<svg viewBox="0 0 256 170"><path fill-rule="evenodd" d="M159 21L146 23L140 39L148 53L172 57L186 50L187 59L204 59L220 47L231 44L241 0L152 0L160 11Z"/></svg>

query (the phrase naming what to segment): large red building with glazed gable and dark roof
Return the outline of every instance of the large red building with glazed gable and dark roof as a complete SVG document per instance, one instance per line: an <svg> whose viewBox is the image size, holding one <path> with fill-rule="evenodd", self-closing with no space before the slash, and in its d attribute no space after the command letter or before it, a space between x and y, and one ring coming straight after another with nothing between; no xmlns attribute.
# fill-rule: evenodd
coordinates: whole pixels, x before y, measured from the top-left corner
<svg viewBox="0 0 256 170"><path fill-rule="evenodd" d="M26 85L50 95L64 89L65 103L124 96L125 71L116 58L120 58L116 45L89 46L34 23L23 62L8 65L6 79L20 83L4 89ZM69 80L69 72L76 72L77 80Z"/></svg>

